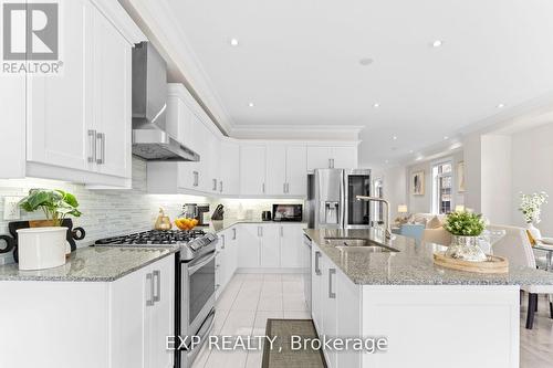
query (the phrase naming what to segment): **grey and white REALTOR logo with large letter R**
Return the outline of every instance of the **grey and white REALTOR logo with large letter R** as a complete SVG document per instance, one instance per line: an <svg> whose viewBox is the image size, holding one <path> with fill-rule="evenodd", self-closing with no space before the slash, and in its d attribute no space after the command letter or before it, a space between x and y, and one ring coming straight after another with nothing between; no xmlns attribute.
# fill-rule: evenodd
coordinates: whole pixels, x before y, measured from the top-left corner
<svg viewBox="0 0 553 368"><path fill-rule="evenodd" d="M2 72L58 74L63 64L59 61L59 23L55 2L3 3Z"/></svg>

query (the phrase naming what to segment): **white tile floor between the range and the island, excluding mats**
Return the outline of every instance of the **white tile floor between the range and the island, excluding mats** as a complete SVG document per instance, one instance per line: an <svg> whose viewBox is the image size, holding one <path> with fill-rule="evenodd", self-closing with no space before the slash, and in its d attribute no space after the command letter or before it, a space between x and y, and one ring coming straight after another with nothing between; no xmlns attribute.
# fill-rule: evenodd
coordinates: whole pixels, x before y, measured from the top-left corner
<svg viewBox="0 0 553 368"><path fill-rule="evenodd" d="M217 301L211 335L260 336L268 318L311 318L301 274L236 274ZM192 368L260 368L262 351L200 350Z"/></svg>

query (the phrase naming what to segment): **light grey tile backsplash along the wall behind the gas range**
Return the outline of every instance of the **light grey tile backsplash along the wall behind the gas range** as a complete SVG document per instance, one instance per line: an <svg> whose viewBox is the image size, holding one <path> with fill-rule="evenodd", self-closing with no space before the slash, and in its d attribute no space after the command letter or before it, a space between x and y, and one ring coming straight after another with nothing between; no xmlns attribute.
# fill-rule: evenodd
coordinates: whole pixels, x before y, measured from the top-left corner
<svg viewBox="0 0 553 368"><path fill-rule="evenodd" d="M251 220L261 220L261 211L271 210L272 203L303 203L302 200L291 199L216 199L185 194L148 194L146 161L133 158L131 190L90 190L84 185L32 178L0 179L0 234L8 233L8 222L18 221L3 220L3 198L22 198L31 188L62 189L76 196L83 215L73 219L73 222L86 231L86 238L77 242L77 246L90 245L101 238L152 229L159 207L163 207L173 220L180 213L184 203L210 203L211 211L218 203L222 203L225 218L236 219L241 204L243 211L251 214ZM42 212L22 211L20 220L43 218ZM0 254L0 264L10 262L13 262L11 253Z"/></svg>

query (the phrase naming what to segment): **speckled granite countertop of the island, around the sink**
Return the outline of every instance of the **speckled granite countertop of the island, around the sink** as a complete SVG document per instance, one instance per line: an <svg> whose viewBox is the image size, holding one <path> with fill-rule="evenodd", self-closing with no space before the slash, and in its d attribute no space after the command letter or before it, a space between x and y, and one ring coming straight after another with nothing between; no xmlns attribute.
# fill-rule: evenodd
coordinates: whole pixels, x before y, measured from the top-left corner
<svg viewBox="0 0 553 368"><path fill-rule="evenodd" d="M553 273L531 267L510 265L509 273L479 274L448 270L434 264L435 251L446 246L417 242L395 235L385 242L399 252L369 253L363 249L337 249L326 244L327 236L368 238L383 242L382 232L364 230L314 230L305 234L319 245L354 283L362 285L553 285Z"/></svg>

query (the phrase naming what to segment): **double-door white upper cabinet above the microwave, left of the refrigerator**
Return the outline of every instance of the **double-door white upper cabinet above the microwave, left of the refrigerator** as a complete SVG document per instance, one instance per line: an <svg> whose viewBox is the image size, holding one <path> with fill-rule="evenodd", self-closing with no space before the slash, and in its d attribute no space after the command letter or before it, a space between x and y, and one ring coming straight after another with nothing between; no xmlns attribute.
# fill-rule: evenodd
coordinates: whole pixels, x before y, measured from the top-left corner
<svg viewBox="0 0 553 368"><path fill-rule="evenodd" d="M267 147L267 194L304 197L307 193L305 146Z"/></svg>

